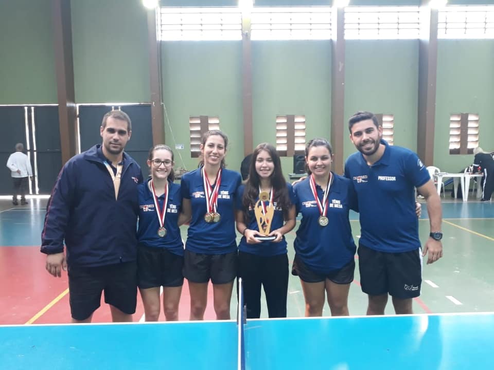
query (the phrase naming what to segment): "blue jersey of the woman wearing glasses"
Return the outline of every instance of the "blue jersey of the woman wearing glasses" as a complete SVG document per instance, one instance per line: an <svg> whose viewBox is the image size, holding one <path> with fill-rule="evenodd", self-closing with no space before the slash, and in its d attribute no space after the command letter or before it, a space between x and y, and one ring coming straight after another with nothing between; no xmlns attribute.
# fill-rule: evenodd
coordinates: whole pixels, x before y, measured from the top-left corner
<svg viewBox="0 0 494 370"><path fill-rule="evenodd" d="M168 181L168 205L165 215L165 229L167 231L165 237L158 236L157 232L160 228L160 221L156 208L154 207L153 193L149 190L150 178L138 186L139 192L139 227L137 229L137 239L139 245L154 248L166 248L171 253L183 255L184 244L180 235L178 226L179 215L182 210L182 194L180 193L180 185ZM158 197L158 205L163 211L165 197Z"/></svg>

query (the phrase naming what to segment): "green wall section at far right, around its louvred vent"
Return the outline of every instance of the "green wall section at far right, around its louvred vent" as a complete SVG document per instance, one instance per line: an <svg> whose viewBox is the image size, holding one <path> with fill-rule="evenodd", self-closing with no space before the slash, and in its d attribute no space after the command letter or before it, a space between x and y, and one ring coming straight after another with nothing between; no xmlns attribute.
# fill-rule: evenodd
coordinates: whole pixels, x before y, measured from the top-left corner
<svg viewBox="0 0 494 370"><path fill-rule="evenodd" d="M494 151L494 40L439 40L434 165L459 172L472 155L449 154L449 117L478 113L479 144Z"/></svg>

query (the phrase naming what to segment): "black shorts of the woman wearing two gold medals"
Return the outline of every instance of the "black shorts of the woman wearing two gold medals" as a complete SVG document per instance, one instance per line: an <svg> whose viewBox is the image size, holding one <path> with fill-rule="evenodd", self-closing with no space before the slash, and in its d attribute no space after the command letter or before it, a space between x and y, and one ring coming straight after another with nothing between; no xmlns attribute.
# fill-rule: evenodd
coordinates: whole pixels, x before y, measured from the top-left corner
<svg viewBox="0 0 494 370"><path fill-rule="evenodd" d="M231 283L237 277L237 251L226 254L202 254L185 250L184 276L192 283Z"/></svg>

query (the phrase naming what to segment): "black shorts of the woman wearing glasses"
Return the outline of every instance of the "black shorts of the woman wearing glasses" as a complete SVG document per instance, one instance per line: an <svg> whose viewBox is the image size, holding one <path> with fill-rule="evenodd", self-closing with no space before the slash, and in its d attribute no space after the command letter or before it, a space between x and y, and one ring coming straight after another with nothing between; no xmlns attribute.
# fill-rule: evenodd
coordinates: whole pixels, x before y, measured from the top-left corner
<svg viewBox="0 0 494 370"><path fill-rule="evenodd" d="M184 257L165 248L137 248L137 286L148 289L155 287L178 287L184 283L182 269Z"/></svg>

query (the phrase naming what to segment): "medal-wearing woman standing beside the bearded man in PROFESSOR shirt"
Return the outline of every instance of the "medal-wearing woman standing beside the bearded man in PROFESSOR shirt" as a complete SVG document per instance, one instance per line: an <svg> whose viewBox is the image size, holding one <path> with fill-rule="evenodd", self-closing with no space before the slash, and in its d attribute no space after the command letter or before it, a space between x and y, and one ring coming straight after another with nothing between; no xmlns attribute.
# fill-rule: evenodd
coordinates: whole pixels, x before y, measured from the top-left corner
<svg viewBox="0 0 494 370"><path fill-rule="evenodd" d="M305 156L309 176L293 188L302 220L292 274L301 280L305 316L322 316L325 293L331 315L348 316L357 249L348 213L356 209L357 196L349 179L331 172L333 153L327 140L310 140Z"/></svg>

